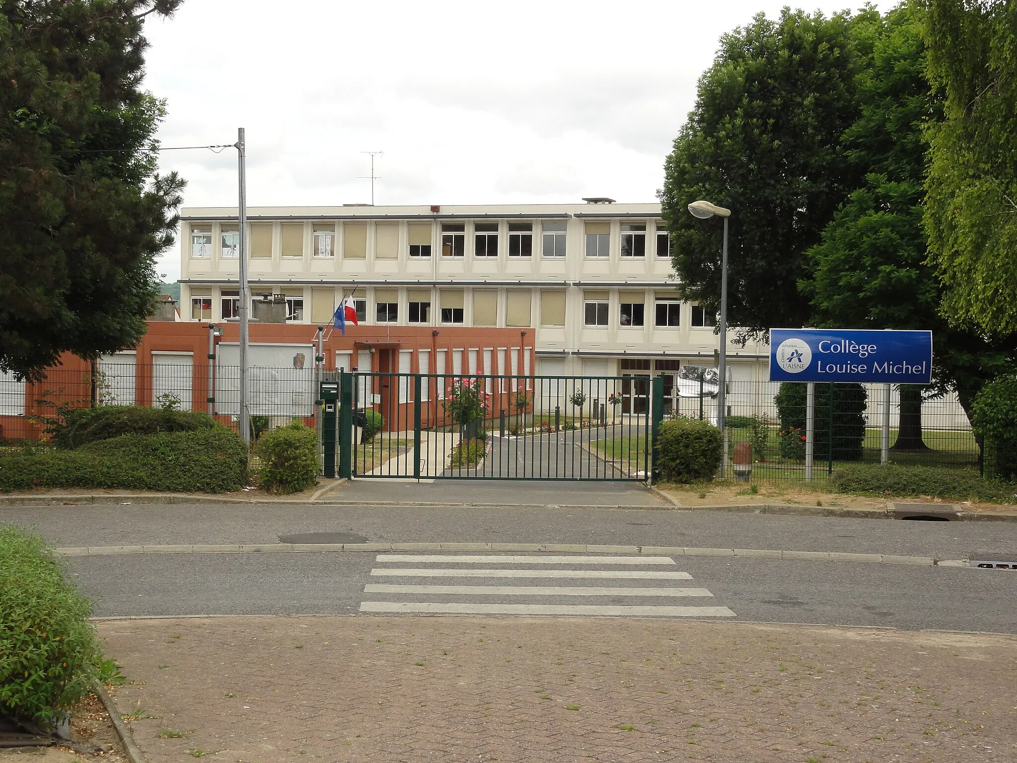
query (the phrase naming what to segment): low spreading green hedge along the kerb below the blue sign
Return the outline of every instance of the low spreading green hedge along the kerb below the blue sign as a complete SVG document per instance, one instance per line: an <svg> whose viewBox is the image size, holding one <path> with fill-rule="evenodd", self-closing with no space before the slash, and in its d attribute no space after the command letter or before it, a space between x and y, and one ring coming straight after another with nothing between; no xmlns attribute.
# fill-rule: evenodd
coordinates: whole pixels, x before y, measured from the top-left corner
<svg viewBox="0 0 1017 763"><path fill-rule="evenodd" d="M830 485L837 492L869 495L1015 503L1012 485L982 479L970 469L856 464L835 471Z"/></svg>

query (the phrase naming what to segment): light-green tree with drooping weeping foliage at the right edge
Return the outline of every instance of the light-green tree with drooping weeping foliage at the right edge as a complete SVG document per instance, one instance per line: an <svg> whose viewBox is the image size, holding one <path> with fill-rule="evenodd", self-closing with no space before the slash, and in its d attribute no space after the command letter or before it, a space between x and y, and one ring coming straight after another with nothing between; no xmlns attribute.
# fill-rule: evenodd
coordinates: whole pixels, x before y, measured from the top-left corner
<svg viewBox="0 0 1017 763"><path fill-rule="evenodd" d="M1017 332L1017 3L924 0L930 74L946 95L925 183L943 308Z"/></svg>

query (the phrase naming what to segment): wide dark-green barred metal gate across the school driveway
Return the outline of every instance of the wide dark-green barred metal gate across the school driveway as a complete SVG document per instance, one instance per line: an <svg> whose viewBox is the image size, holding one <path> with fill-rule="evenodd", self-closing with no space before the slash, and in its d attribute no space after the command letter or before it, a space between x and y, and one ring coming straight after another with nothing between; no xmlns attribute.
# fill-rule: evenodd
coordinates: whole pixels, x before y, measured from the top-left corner
<svg viewBox="0 0 1017 763"><path fill-rule="evenodd" d="M654 379L651 400L640 410L622 405L631 383L620 376L346 373L339 473L647 480L663 385Z"/></svg>

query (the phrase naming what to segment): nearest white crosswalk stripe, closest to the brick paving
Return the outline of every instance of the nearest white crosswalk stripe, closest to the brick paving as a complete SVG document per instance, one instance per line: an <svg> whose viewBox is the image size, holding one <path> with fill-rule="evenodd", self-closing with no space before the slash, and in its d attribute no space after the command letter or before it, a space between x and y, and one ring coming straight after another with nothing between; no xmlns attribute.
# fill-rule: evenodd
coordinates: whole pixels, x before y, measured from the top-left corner
<svg viewBox="0 0 1017 763"><path fill-rule="evenodd" d="M364 601L362 612L418 614L593 614L637 618L733 618L726 606L625 606L608 604L439 604L424 601Z"/></svg>

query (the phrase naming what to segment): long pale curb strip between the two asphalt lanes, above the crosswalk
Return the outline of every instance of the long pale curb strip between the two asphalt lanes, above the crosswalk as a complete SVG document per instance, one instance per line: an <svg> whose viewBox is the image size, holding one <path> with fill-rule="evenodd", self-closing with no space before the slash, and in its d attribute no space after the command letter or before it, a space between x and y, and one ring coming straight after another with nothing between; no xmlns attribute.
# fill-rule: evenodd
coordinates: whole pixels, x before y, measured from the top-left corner
<svg viewBox="0 0 1017 763"><path fill-rule="evenodd" d="M649 556L738 556L796 562L855 562L870 565L966 567L967 560L903 556L892 553L790 551L764 548L697 548L667 545L597 545L585 543L246 543L237 545L110 545L57 548L61 556L120 556L159 553L306 553L357 551L530 551L552 553L629 553Z"/></svg>

